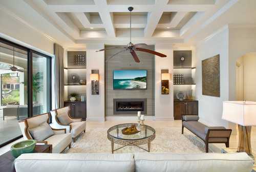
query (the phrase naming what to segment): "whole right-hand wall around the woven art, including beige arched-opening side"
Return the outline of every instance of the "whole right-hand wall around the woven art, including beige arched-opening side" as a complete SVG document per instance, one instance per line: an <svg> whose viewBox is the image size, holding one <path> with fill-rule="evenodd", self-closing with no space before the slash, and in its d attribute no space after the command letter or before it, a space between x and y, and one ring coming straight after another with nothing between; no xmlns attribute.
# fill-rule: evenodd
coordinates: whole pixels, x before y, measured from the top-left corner
<svg viewBox="0 0 256 172"><path fill-rule="evenodd" d="M202 122L229 128L235 126L221 119L222 101L236 100L236 61L247 53L256 52L255 45L256 28L226 25L196 46L196 99L199 100L199 117ZM202 95L201 61L217 54L220 54L220 97L205 96Z"/></svg>

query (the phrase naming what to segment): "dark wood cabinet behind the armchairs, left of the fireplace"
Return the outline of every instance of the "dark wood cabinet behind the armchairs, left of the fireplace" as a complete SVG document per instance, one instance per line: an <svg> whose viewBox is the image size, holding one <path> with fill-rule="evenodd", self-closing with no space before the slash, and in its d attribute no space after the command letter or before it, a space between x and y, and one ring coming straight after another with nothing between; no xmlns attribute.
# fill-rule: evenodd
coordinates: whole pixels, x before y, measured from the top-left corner
<svg viewBox="0 0 256 172"><path fill-rule="evenodd" d="M64 101L64 106L70 106L69 115L72 118L82 118L86 121L86 101Z"/></svg>

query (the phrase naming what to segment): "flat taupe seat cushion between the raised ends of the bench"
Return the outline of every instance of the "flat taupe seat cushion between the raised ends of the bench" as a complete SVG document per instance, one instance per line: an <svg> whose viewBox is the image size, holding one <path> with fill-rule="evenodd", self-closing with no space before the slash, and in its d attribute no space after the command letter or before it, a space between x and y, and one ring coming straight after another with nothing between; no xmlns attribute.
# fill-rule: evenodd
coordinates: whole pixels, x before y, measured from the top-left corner
<svg viewBox="0 0 256 172"><path fill-rule="evenodd" d="M182 123L183 126L186 127L189 131L205 141L206 133L204 132L204 128L207 127L207 125L204 125L198 121L183 121Z"/></svg>

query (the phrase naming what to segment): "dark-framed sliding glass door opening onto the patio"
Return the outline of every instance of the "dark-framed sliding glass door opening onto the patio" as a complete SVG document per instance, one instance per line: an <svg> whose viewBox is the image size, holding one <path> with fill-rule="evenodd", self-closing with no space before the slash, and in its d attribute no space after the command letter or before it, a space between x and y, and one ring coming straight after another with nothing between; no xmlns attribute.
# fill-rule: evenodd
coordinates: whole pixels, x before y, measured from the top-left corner
<svg viewBox="0 0 256 172"><path fill-rule="evenodd" d="M51 57L0 38L0 147L22 137L18 121L50 112Z"/></svg>

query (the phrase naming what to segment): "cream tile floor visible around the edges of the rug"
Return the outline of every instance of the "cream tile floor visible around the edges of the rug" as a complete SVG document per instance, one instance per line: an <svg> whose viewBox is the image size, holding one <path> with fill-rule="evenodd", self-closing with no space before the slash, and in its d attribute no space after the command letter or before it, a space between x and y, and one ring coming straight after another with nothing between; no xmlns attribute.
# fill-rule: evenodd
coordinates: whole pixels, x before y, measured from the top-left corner
<svg viewBox="0 0 256 172"><path fill-rule="evenodd" d="M0 119L1 120L1 119ZM105 122L87 122L87 128L109 128L113 125L119 124L119 123L133 123L134 121L119 121L119 120L109 120ZM154 120L147 120L144 122L147 125L150 125L155 128L170 128L170 127L181 127L181 120L175 120L175 121L154 121ZM1 125L2 126L2 125ZM2 130L3 128L1 128ZM186 130L186 128L185 128ZM238 146L238 135L236 135L236 132L232 132L233 134L230 137L229 145L230 147L237 147ZM21 141L23 138L16 140L15 142ZM0 148L0 155L6 153L8 150L10 150L10 146L13 143L10 143L2 148ZM214 152L221 153L221 148L225 147L225 144L223 143L210 143L209 147L214 150ZM251 129L251 147L252 152L256 153L256 126L252 126Z"/></svg>

